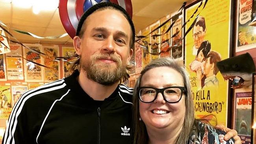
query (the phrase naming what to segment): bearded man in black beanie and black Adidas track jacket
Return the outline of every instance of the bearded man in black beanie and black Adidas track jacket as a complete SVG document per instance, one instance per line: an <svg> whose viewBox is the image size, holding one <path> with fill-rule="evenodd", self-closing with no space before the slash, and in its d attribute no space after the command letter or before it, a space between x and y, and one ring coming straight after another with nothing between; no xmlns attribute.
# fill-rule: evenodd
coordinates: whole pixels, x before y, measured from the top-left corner
<svg viewBox="0 0 256 144"><path fill-rule="evenodd" d="M3 144L130 144L133 89L119 83L128 78L134 36L120 6L88 9L73 39L73 74L24 93Z"/></svg>

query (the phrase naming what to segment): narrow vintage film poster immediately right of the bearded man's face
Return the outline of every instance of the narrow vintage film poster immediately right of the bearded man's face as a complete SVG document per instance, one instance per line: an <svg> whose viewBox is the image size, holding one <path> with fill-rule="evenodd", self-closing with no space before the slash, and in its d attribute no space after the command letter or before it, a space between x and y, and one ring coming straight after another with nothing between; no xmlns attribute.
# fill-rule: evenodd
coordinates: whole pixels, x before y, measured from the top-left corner
<svg viewBox="0 0 256 144"><path fill-rule="evenodd" d="M137 36L141 36L141 31L139 31ZM135 42L134 44L134 53L135 53L135 73L141 72L142 68L142 47L140 44L143 44L142 40Z"/></svg>

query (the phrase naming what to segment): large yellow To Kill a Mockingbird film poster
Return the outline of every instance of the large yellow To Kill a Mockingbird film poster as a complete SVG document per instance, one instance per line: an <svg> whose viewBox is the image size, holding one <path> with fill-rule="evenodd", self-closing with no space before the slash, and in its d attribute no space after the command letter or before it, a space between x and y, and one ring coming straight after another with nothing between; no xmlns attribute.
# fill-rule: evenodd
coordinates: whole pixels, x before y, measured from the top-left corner
<svg viewBox="0 0 256 144"><path fill-rule="evenodd" d="M217 62L229 57L231 0L209 0L186 24L186 31L200 15L185 39L185 66L189 72L197 118L214 114L218 124L227 126L228 81L217 68ZM200 2L185 11L185 21ZM220 35L221 34L221 35Z"/></svg>

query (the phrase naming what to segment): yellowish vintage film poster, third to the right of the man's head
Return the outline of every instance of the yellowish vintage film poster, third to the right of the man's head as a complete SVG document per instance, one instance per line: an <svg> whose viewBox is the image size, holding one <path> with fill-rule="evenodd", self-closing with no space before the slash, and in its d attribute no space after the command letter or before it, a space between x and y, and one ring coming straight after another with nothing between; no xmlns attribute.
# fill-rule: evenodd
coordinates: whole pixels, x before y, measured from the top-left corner
<svg viewBox="0 0 256 144"><path fill-rule="evenodd" d="M150 32L156 29L158 26L160 26L160 20L155 22L154 24L150 25ZM159 50L160 50L160 36L155 37L152 35L160 35L160 29L157 29L156 31L152 32L150 34L150 53L151 53L151 61L154 59L157 59L159 57ZM156 55L153 55L156 54Z"/></svg>

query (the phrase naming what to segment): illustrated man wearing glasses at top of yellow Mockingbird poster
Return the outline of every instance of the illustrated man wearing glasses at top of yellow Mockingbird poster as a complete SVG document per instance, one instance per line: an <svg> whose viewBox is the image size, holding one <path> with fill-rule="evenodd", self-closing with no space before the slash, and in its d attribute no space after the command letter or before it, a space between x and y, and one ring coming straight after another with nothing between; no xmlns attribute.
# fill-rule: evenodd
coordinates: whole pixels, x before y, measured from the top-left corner
<svg viewBox="0 0 256 144"><path fill-rule="evenodd" d="M193 55L197 55L197 50L200 47L201 43L204 41L204 36L206 33L206 25L204 17L199 16L195 25L193 26L193 39L194 39L194 46L193 46Z"/></svg>

